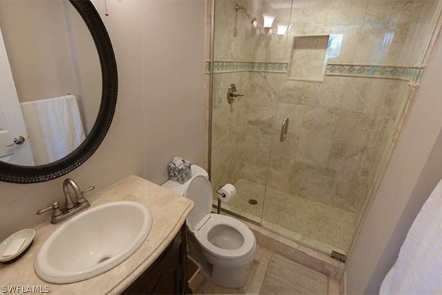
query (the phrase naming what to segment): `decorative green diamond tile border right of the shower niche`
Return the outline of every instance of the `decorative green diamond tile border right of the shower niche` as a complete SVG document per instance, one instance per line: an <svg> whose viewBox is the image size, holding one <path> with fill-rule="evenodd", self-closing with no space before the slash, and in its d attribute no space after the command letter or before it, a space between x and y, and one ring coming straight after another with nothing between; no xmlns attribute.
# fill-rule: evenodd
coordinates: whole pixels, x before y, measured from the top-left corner
<svg viewBox="0 0 442 295"><path fill-rule="evenodd" d="M327 64L325 75L398 79L419 84L423 67Z"/></svg>

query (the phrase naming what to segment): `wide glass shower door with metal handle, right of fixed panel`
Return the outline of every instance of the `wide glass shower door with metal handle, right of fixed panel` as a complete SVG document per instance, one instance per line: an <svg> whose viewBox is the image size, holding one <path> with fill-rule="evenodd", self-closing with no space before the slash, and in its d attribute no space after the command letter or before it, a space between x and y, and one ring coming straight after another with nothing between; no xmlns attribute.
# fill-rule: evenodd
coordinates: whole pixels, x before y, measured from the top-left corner
<svg viewBox="0 0 442 295"><path fill-rule="evenodd" d="M395 3L294 0L273 11L290 15L273 123L289 127L285 141L273 135L261 224L325 254L349 250L441 10Z"/></svg>

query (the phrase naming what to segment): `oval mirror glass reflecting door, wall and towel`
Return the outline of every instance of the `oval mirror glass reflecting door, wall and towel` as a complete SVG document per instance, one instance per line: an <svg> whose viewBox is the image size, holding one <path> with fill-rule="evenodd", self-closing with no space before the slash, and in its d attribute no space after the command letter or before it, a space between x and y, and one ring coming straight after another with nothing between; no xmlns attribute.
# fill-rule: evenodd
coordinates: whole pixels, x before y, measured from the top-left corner
<svg viewBox="0 0 442 295"><path fill-rule="evenodd" d="M102 73L67 0L0 1L0 72L0 161L48 164L81 144L97 117Z"/></svg>

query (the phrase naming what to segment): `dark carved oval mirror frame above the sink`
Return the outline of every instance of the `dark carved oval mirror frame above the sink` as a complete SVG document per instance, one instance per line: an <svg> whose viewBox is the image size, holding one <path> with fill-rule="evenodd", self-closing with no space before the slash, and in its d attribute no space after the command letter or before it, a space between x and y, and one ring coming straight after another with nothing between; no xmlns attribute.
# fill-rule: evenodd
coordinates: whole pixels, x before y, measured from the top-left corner
<svg viewBox="0 0 442 295"><path fill-rule="evenodd" d="M98 149L104 140L117 106L117 64L106 27L90 0L69 0L79 12L93 37L102 69L102 101L97 120L77 149L64 158L41 166L18 166L0 162L0 181L13 183L45 182L73 171Z"/></svg>

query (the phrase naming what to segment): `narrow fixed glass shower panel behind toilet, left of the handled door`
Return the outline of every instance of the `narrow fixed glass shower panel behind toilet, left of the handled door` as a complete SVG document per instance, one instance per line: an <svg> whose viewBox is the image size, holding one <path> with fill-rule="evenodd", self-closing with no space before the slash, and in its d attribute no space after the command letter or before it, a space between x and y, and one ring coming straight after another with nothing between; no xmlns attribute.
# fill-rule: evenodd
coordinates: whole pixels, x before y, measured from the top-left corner
<svg viewBox="0 0 442 295"><path fill-rule="evenodd" d="M262 14L287 1L215 1L211 181L216 191L235 185L238 196L222 207L260 223L269 155L275 130L276 96L287 64L282 62L287 37L263 28ZM288 1L289 6L291 1ZM276 19L289 23L289 15ZM244 97L229 104L236 84ZM214 202L216 203L217 196Z"/></svg>

